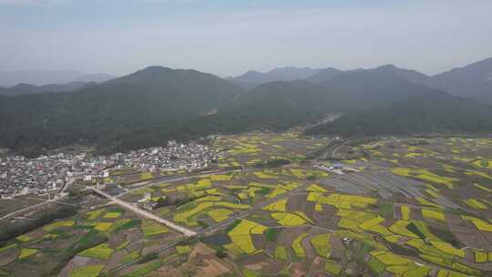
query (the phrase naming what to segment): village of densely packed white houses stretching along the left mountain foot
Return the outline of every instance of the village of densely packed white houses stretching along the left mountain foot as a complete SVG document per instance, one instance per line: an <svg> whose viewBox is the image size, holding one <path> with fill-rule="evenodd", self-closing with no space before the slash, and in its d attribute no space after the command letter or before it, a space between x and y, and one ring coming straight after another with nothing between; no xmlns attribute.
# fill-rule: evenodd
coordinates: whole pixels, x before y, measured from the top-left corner
<svg viewBox="0 0 492 277"><path fill-rule="evenodd" d="M0 158L0 198L2 200L26 196L48 196L63 190L69 180L108 177L109 169L132 168L156 172L158 170L204 169L218 153L208 146L169 141L168 146L138 149L93 157L87 153Z"/></svg>

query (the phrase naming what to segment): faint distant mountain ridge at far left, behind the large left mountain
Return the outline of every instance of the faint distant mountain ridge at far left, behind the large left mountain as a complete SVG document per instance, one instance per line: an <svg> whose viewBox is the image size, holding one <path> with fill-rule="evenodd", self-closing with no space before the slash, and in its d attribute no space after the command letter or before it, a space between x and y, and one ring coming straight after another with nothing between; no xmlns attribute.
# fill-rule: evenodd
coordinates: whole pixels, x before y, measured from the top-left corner
<svg viewBox="0 0 492 277"><path fill-rule="evenodd" d="M64 85L52 84L35 86L29 84L18 84L14 87L0 87L0 95L19 96L23 94L36 94L44 92L69 92L80 87L94 85L95 83L71 82Z"/></svg>

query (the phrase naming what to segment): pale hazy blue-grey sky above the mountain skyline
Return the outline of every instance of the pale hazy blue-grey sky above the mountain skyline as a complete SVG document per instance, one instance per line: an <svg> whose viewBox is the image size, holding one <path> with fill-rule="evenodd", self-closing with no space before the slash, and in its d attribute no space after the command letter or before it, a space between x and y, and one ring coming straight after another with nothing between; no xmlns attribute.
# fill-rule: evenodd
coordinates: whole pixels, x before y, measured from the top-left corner
<svg viewBox="0 0 492 277"><path fill-rule="evenodd" d="M489 0L0 0L0 70L435 74L492 56Z"/></svg>

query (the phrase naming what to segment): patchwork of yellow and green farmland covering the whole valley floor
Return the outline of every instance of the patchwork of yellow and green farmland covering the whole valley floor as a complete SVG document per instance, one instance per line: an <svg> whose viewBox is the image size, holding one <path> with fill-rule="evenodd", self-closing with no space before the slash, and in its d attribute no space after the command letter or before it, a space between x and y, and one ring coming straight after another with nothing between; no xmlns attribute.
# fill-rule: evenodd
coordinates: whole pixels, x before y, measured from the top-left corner
<svg viewBox="0 0 492 277"><path fill-rule="evenodd" d="M332 143L224 136L210 171L101 186L192 237L79 184L75 214L2 242L0 276L492 273L492 139L364 139L316 159Z"/></svg>

